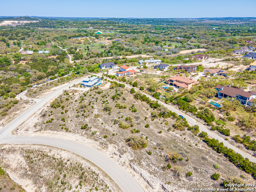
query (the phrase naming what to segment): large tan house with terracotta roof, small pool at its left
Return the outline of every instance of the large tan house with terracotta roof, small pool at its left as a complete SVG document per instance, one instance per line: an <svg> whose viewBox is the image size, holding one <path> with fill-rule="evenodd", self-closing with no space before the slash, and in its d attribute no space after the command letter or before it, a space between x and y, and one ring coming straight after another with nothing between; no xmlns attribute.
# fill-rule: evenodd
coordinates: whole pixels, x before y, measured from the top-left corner
<svg viewBox="0 0 256 192"><path fill-rule="evenodd" d="M199 84L198 81L192 80L192 78L186 78L185 76L173 76L165 80L166 84L176 86L177 88L191 89L192 86Z"/></svg>

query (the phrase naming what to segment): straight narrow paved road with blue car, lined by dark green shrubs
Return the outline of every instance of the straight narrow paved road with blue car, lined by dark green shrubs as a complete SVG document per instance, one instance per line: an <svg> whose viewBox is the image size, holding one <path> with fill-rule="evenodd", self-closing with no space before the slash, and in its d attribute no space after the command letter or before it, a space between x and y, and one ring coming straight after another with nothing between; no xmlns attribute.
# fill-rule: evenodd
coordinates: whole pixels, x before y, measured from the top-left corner
<svg viewBox="0 0 256 192"><path fill-rule="evenodd" d="M111 80L111 79L109 79ZM111 80L113 81L113 80ZM118 81L116 81L118 82ZM122 82L118 82L118 83L122 83ZM134 88L132 86L129 86L127 84L125 84L125 86L129 89L131 88ZM138 89L134 88L136 91L138 91ZM141 92L142 94L145 94L143 92ZM244 158L248 158L250 161L252 162L256 162L256 159L254 159L252 156L246 154L245 152L241 151L240 149L236 148L235 146L233 146L232 144L228 143L226 140L220 138L218 135L214 134L213 132L211 132L210 130L208 130L207 128L205 128L204 126L201 126L200 124L198 124L196 122L196 120L194 120L193 118L190 118L189 116L186 116L184 113L180 112L180 110L177 110L176 108L173 108L172 106L168 105L168 104L165 104L159 100L157 100L156 98L148 95L148 94L145 94L147 97L149 97L151 100L155 100L155 101L158 101L158 103L162 104L163 106L167 107L169 110L171 110L172 112L175 112L176 114L178 115L182 115L186 118L186 120L192 124L192 125L198 125L199 126L199 129L201 131L204 131L204 132L207 132L208 136L210 136L211 138L214 138L214 139L218 139L220 142L223 142L224 146L227 146L228 148L231 148L233 149L235 152L238 152L239 154L241 154Z"/></svg>

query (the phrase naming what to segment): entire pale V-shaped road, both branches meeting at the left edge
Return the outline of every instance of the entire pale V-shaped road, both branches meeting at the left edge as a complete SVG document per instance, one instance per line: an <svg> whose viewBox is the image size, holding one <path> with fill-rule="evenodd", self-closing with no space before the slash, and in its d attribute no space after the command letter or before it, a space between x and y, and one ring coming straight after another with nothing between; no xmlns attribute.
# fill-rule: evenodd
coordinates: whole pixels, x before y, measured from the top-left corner
<svg viewBox="0 0 256 192"><path fill-rule="evenodd" d="M12 120L12 122L7 124L4 128L0 130L0 144L42 144L66 149L83 156L84 158L90 160L98 167L100 167L114 180L114 182L116 182L116 184L118 184L123 192L144 192L144 190L132 178L132 176L130 176L121 166L114 162L114 160L96 150L93 150L92 148L89 148L82 144L78 144L76 142L59 138L12 135L12 130L14 130L24 121L26 121L32 114L34 114L37 110L44 106L44 104L58 96L58 94L60 94L63 90L67 90L69 86L72 86L73 84L78 84L80 82L81 80L77 80L76 82L72 82L64 87L59 88L58 90L55 90L44 98L40 98L40 100L38 100L36 104L34 104L28 110L24 111L22 114L20 114L20 116Z"/></svg>

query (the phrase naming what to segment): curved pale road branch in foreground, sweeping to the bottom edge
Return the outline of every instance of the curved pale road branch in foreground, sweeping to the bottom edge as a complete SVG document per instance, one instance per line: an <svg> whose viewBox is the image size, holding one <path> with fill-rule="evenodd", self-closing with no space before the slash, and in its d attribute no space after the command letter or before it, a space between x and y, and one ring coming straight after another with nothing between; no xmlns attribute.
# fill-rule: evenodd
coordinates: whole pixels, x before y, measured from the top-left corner
<svg viewBox="0 0 256 192"><path fill-rule="evenodd" d="M48 137L28 137L12 136L13 139L0 140L0 144L3 143L26 143L26 144L43 144L48 146L54 146L74 152L100 167L108 176L110 176L116 184L122 189L123 192L144 192L140 185L130 176L121 166L119 166L114 160L106 155L84 146L82 144L63 140L59 138Z"/></svg>

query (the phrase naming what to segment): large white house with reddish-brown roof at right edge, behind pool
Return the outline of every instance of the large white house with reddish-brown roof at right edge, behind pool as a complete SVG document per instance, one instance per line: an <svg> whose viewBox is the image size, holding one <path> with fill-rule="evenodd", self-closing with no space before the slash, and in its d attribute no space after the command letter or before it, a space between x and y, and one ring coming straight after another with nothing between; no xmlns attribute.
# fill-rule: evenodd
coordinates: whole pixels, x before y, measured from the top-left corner
<svg viewBox="0 0 256 192"><path fill-rule="evenodd" d="M241 104L254 105L256 102L256 92L246 92L243 89L237 89L229 86L217 85L215 87L218 90L218 98L230 98L230 100L240 100Z"/></svg>

